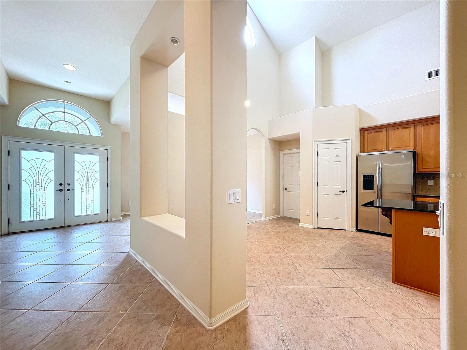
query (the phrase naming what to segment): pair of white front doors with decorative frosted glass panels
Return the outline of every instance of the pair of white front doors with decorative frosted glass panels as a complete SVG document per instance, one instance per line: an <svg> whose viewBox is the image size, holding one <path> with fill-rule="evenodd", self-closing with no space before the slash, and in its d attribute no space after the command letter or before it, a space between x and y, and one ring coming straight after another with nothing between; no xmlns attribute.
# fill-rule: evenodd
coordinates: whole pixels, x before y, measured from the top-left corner
<svg viewBox="0 0 467 350"><path fill-rule="evenodd" d="M9 141L8 231L107 220L107 150Z"/></svg>

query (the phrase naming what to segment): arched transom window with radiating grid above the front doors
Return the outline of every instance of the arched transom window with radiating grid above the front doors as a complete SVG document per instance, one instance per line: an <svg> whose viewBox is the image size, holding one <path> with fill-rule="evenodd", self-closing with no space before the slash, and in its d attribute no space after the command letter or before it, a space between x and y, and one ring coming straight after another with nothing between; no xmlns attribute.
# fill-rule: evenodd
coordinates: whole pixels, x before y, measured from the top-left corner
<svg viewBox="0 0 467 350"><path fill-rule="evenodd" d="M71 102L42 100L21 112L18 126L35 129L102 136L99 123L91 113Z"/></svg>

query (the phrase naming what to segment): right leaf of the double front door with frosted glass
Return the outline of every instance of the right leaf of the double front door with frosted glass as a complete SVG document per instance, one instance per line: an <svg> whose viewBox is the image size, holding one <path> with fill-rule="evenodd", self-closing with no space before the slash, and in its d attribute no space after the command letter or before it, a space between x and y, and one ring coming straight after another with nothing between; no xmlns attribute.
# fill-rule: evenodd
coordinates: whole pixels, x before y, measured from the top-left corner
<svg viewBox="0 0 467 350"><path fill-rule="evenodd" d="M107 150L65 147L65 226L107 220Z"/></svg>

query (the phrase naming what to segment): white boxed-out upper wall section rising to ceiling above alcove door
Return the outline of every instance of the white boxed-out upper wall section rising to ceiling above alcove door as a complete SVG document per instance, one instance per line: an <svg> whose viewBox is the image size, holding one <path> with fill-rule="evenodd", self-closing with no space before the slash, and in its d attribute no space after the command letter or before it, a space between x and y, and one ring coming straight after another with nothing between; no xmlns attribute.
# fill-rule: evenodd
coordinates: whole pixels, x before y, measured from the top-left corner
<svg viewBox="0 0 467 350"><path fill-rule="evenodd" d="M318 75L318 76L317 76ZM280 55L281 115L321 106L321 49L312 37Z"/></svg>

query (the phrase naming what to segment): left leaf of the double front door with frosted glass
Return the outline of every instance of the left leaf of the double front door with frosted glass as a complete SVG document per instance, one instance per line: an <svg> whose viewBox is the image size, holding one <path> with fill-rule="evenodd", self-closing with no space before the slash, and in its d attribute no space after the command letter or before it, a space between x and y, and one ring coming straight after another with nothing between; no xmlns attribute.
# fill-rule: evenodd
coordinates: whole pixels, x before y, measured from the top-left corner
<svg viewBox="0 0 467 350"><path fill-rule="evenodd" d="M64 146L9 142L9 232L64 225Z"/></svg>

